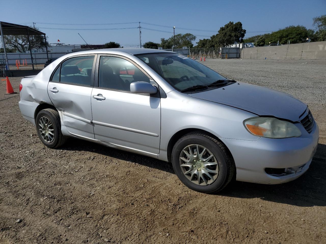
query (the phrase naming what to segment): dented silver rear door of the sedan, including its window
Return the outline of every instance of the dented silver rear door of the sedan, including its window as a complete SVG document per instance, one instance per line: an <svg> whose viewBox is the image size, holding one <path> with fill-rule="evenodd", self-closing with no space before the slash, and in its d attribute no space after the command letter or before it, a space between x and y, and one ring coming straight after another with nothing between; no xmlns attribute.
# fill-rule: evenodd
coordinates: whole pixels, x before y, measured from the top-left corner
<svg viewBox="0 0 326 244"><path fill-rule="evenodd" d="M94 139L91 93L97 55L78 55L63 61L52 75L48 94L62 122L74 135Z"/></svg>

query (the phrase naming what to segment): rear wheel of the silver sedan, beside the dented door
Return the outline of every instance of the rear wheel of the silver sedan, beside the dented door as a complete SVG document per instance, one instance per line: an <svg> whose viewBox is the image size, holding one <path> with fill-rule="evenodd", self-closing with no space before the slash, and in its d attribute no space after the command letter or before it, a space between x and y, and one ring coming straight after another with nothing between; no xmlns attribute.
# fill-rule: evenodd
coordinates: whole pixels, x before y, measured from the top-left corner
<svg viewBox="0 0 326 244"><path fill-rule="evenodd" d="M49 121L51 123L49 123ZM38 137L40 138L41 142L47 147L57 148L66 142L66 137L61 132L60 116L58 111L55 109L47 108L41 110L36 116L35 124ZM46 125L47 129L42 129L45 128L44 125ZM47 127L47 125L50 126ZM48 133L45 132L48 134L48 136L45 136L45 138L44 131L48 131Z"/></svg>

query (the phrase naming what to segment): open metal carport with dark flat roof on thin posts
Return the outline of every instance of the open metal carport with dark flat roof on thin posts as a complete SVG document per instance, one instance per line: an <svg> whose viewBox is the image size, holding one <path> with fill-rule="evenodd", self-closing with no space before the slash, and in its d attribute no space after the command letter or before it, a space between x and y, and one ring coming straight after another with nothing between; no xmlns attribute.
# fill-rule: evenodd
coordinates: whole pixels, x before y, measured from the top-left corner
<svg viewBox="0 0 326 244"><path fill-rule="evenodd" d="M7 52L6 52L6 45L5 45L5 38L4 35L27 35L28 38L28 49L31 54L31 60L32 60L32 66L34 70L34 62L33 62L33 56L32 56L32 50L31 50L31 45L30 45L30 40L29 40L29 35L44 35L44 40L45 40L45 49L46 49L46 56L49 59L48 55L48 47L46 45L46 35L43 32L37 31L29 26L26 25L18 25L18 24L12 24L12 23L7 23L0 21L0 34L2 37L2 43L3 43L3 49L5 51L5 56L6 56L6 64L9 68L9 63L8 63L8 57L7 57Z"/></svg>

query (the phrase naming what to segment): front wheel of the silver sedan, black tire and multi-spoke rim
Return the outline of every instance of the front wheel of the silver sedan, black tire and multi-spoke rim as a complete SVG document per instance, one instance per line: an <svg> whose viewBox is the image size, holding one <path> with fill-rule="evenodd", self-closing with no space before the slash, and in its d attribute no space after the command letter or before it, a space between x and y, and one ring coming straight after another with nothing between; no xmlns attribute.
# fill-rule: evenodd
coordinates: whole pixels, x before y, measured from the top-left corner
<svg viewBox="0 0 326 244"><path fill-rule="evenodd" d="M189 155L190 150L192 155ZM200 152L199 155L197 150ZM185 151L188 152L188 155ZM201 154L202 157L200 157ZM210 157L212 154L213 156ZM202 160L199 162L200 158ZM208 158L210 159L207 160ZM215 138L202 132L186 134L175 143L172 149L172 165L182 183L194 191L203 193L221 191L231 182L236 171L233 158L226 147ZM189 170L191 172L186 174ZM207 174L210 174L210 177Z"/></svg>

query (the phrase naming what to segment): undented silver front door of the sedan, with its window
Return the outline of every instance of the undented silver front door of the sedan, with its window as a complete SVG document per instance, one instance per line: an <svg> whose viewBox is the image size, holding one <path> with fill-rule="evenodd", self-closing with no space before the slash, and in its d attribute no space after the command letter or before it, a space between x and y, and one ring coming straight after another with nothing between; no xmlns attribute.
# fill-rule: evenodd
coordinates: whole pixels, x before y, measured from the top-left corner
<svg viewBox="0 0 326 244"><path fill-rule="evenodd" d="M95 139L158 154L160 98L130 92L135 81L156 84L140 68L123 57L98 57L91 99Z"/></svg>

